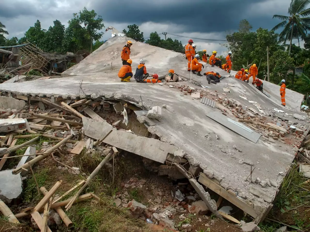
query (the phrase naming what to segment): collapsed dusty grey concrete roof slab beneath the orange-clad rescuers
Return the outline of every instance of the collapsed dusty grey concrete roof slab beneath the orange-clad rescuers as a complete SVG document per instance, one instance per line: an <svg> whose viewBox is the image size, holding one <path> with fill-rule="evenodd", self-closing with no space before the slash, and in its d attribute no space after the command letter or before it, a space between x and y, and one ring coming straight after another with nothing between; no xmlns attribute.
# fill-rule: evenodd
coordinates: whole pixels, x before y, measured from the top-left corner
<svg viewBox="0 0 310 232"><path fill-rule="evenodd" d="M262 197L253 195L250 192L250 187L262 189L266 195L273 198L277 187L284 178L279 173L285 173L289 168L294 160L296 148L280 141L271 143L263 140L262 137L256 144L252 143L206 117L206 114L211 111L220 112L218 109L204 105L190 95L184 95L179 89L169 88L168 84L140 84L136 83L133 78L130 83L120 82L117 73L122 66L120 53L126 40L127 38L123 37L114 37L108 40L82 62L65 71L65 74L75 76L0 84L0 90L41 97L84 98L85 95L92 98L114 97L142 103L149 109L152 106L165 104L166 108L162 109L162 118L148 130L157 134L163 142L183 149L192 165L199 165L205 174L219 181L226 190L236 191L242 199L254 203L254 206L267 208L269 203L262 200ZM187 61L183 54L135 42L131 49L133 72L141 58L146 62L148 73L165 75L172 68L175 72L189 77ZM241 82L219 68L206 64L203 72L206 71L219 72L227 77L216 85L209 85L205 76L199 77L192 74L192 80L196 84L210 86L211 88L208 90L217 92L223 98L227 95L229 99L235 100L243 106L258 110L255 105L249 102L255 101L261 106L263 111L261 114L265 114L268 118L288 118L287 120L292 123L300 123L305 127L308 124L308 121L298 121L292 116L300 111L303 95L287 89L287 107L285 108L281 106L280 87L275 84L264 81L264 91L271 96L268 98L251 84ZM82 80L81 90L79 83ZM188 82L179 82L178 84L197 87ZM222 95L223 88L229 88L230 92ZM275 108L284 112L276 112ZM299 114L305 115L301 112ZM238 149L235 149L236 146ZM245 162L240 162L240 160ZM274 186L262 187L258 183L246 181L250 174L249 164L256 168L252 174L253 180L256 178L269 180L274 183Z"/></svg>

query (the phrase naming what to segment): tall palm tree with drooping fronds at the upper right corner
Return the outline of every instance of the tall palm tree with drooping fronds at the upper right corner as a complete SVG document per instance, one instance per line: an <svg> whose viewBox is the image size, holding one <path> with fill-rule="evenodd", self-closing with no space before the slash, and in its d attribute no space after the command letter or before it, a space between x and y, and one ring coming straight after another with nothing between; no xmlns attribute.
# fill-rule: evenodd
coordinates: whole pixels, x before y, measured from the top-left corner
<svg viewBox="0 0 310 232"><path fill-rule="evenodd" d="M292 0L289 8L289 15L273 15L272 18L278 18L283 20L281 23L272 28L273 31L284 28L279 34L280 41L290 41L289 55L292 49L292 39L299 37L303 40L306 37L306 33L310 30L310 18L305 17L310 15L310 8L306 8L310 0Z"/></svg>

